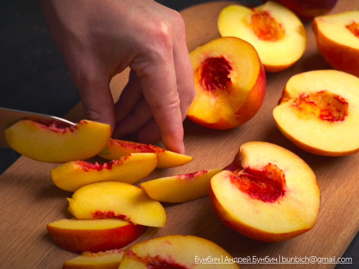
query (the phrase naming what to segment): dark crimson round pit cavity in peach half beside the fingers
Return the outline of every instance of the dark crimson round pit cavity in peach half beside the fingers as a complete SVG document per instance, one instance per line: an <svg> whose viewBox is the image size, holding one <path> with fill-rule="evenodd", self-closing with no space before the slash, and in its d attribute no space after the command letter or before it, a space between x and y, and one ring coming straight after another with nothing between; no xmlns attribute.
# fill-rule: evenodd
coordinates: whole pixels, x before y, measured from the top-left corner
<svg viewBox="0 0 359 269"><path fill-rule="evenodd" d="M230 83L231 70L232 66L224 56L207 58L197 70L199 82L208 91L223 90Z"/></svg>

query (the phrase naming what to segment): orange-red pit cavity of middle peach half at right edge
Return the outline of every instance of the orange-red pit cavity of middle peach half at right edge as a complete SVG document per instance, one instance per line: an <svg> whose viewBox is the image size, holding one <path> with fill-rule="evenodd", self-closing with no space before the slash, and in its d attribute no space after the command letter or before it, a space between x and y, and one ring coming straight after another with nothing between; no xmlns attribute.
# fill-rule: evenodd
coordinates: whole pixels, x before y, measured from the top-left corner
<svg viewBox="0 0 359 269"><path fill-rule="evenodd" d="M329 122L344 121L348 115L348 102L342 96L326 90L314 94L302 93L294 100L292 107L302 114Z"/></svg>

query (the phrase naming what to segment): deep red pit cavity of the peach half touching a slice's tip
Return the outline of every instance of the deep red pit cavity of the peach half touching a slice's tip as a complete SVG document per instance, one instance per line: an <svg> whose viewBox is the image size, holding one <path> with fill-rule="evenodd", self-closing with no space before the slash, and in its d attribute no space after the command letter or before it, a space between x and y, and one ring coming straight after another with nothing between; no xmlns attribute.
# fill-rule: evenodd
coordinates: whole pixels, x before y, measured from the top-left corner
<svg viewBox="0 0 359 269"><path fill-rule="evenodd" d="M252 198L273 203L285 193L284 173L278 166L267 164L262 170L247 167L231 179L239 190Z"/></svg>

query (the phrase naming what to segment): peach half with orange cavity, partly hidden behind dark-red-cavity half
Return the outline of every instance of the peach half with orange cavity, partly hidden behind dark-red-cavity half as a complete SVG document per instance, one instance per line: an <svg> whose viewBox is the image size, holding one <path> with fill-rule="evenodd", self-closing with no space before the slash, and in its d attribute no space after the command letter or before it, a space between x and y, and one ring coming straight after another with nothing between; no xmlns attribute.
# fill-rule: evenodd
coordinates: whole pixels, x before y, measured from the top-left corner
<svg viewBox="0 0 359 269"><path fill-rule="evenodd" d="M227 6L219 14L218 30L223 37L234 36L251 43L267 72L292 66L307 46L303 23L293 11L272 1L254 9Z"/></svg>

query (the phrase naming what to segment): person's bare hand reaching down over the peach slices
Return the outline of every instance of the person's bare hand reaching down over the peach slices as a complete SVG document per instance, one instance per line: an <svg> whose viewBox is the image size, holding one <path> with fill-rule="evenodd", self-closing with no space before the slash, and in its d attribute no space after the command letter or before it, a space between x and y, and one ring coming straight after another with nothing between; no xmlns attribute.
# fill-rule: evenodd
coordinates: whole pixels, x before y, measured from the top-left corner
<svg viewBox="0 0 359 269"><path fill-rule="evenodd" d="M88 119L113 137L160 137L184 153L183 126L194 95L183 19L152 0L42 0L50 33L64 54ZM114 105L109 81L130 66Z"/></svg>

